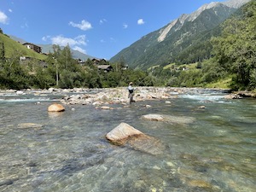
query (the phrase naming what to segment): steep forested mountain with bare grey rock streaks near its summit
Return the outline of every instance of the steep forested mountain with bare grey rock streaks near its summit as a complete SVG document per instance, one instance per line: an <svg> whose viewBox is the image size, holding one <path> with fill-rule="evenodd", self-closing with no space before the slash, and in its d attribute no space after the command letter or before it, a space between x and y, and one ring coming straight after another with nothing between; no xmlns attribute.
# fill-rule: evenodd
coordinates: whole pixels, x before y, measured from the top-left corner
<svg viewBox="0 0 256 192"><path fill-rule="evenodd" d="M190 15L181 15L157 31L150 32L110 61L125 60L129 67L148 69L172 62L192 63L211 56L210 38L220 34L219 25L250 0L204 4Z"/></svg>

